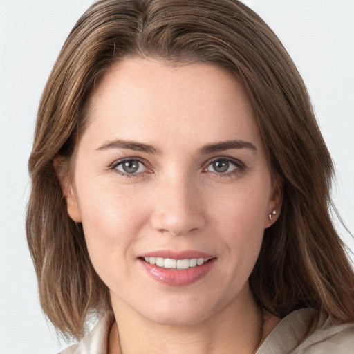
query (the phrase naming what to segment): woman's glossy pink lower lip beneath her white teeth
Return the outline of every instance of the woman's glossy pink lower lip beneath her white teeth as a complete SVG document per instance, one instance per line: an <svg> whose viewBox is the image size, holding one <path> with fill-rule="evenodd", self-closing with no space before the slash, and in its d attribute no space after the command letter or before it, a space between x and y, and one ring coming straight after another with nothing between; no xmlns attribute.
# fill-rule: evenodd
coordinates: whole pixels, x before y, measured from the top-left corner
<svg viewBox="0 0 354 354"><path fill-rule="evenodd" d="M210 270L216 261L215 258L210 259L203 265L197 265L196 267L178 270L178 269L166 269L152 265L139 259L142 268L149 274L149 276L160 283L164 283L170 286L185 286L192 284L202 277L204 277Z"/></svg>

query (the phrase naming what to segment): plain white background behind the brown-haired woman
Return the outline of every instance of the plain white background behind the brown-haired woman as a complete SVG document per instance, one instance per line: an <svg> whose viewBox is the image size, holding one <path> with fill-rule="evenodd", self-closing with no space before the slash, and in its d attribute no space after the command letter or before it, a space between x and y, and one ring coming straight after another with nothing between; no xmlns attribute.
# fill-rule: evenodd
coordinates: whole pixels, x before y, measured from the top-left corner
<svg viewBox="0 0 354 354"><path fill-rule="evenodd" d="M39 308L24 214L41 91L91 0L0 0L0 354L57 353ZM248 0L292 55L337 168L333 197L354 232L354 0ZM342 230L343 231L343 230ZM343 232L354 250L351 236ZM353 257L352 257L353 259Z"/></svg>

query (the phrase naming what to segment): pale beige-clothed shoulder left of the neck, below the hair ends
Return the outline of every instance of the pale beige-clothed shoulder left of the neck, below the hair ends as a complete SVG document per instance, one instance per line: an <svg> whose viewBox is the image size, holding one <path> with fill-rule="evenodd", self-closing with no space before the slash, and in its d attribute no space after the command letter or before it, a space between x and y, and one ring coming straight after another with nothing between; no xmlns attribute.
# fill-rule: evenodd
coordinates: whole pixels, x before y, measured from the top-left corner
<svg viewBox="0 0 354 354"><path fill-rule="evenodd" d="M114 322L113 312L107 312L86 337L59 354L107 354L109 331Z"/></svg>

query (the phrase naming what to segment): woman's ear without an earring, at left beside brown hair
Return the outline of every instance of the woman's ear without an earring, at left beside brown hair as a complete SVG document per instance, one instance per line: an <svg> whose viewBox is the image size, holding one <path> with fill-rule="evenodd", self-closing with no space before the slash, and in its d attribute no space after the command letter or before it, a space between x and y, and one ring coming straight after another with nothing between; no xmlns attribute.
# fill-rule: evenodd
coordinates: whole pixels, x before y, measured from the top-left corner
<svg viewBox="0 0 354 354"><path fill-rule="evenodd" d="M68 158L57 155L53 160L53 165L60 183L60 187L62 188L64 198L66 200L68 215L73 219L73 221L75 221L75 223L81 223L82 217L79 205L77 203L75 188L70 178L68 177Z"/></svg>

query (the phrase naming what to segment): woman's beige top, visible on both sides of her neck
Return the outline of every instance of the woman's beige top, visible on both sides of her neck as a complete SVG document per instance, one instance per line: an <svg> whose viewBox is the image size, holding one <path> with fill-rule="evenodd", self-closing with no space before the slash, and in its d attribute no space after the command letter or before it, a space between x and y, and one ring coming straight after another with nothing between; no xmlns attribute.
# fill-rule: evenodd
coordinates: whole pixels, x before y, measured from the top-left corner
<svg viewBox="0 0 354 354"><path fill-rule="evenodd" d="M290 313L272 330L256 354L354 354L354 324L340 324L329 318L320 317L316 330L301 342L315 315L311 308ZM59 354L108 354L113 322L113 313L106 313L84 339Z"/></svg>

